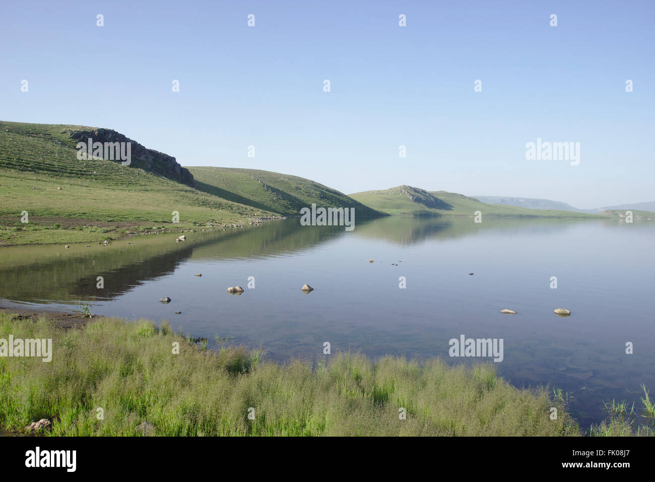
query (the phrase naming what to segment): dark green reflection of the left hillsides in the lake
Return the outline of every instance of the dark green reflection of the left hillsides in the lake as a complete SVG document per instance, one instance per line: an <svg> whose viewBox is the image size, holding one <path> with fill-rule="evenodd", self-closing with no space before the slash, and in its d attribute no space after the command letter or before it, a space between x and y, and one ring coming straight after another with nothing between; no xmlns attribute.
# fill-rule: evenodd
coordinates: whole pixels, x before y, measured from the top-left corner
<svg viewBox="0 0 655 482"><path fill-rule="evenodd" d="M302 229L300 229L302 228ZM257 228L149 235L92 244L8 247L0 250L0 297L9 300L100 300L172 273L193 259L239 259L284 255L311 248L343 231L339 227L307 228L297 219L269 222ZM132 244L128 244L132 243ZM96 277L104 289L96 288Z"/></svg>

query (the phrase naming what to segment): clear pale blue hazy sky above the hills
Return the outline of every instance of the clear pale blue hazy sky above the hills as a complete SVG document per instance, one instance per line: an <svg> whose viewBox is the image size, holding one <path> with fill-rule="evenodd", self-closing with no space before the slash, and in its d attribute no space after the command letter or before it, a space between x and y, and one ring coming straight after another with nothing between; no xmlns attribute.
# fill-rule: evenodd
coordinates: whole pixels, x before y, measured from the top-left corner
<svg viewBox="0 0 655 482"><path fill-rule="evenodd" d="M0 119L345 193L654 201L654 31L652 0L4 2ZM537 138L580 164L527 160Z"/></svg>

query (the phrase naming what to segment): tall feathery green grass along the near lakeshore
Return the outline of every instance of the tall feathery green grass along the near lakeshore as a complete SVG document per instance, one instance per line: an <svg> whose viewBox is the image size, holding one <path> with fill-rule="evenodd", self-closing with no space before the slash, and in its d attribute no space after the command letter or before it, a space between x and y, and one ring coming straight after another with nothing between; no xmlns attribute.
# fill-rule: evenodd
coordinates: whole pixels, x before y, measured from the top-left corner
<svg viewBox="0 0 655 482"><path fill-rule="evenodd" d="M52 338L53 355L50 363L0 358L0 426L8 430L48 418L52 435L136 435L143 421L157 435L579 433L546 390L517 390L491 363L372 363L340 353L278 364L240 346L203 350L166 323L98 318L63 331L47 319L0 313L0 338L9 334Z"/></svg>

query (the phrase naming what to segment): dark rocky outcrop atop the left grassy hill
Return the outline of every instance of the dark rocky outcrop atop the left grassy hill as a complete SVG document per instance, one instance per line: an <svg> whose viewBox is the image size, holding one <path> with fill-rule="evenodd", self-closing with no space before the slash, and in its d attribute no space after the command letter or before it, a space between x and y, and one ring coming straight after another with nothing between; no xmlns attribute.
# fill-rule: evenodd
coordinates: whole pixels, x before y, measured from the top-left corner
<svg viewBox="0 0 655 482"><path fill-rule="evenodd" d="M138 167L143 171L159 174L170 180L195 187L193 174L185 167L178 164L175 157L164 154L159 151L147 149L138 142L127 138L120 132L111 129L93 129L92 131L70 131L70 138L78 142L88 142L91 138L93 142L130 142L131 162L130 167ZM116 161L121 162L121 161Z"/></svg>

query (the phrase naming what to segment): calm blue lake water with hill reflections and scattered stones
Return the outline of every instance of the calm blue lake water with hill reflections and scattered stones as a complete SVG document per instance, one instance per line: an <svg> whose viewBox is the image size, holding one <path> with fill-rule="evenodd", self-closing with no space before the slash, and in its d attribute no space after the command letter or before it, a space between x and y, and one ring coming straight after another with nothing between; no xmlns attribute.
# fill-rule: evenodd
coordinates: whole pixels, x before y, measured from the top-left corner
<svg viewBox="0 0 655 482"><path fill-rule="evenodd" d="M568 391L583 424L603 418L601 399L641 406L639 385L655 392L655 224L396 217L359 220L346 232L289 219L185 234L183 243L175 234L107 247L2 248L0 296L4 304L70 310L88 302L97 314L168 319L185 334L261 345L276 360L315 357L327 341L332 353L465 363L448 356L451 338L503 338L500 374L518 387ZM303 294L303 283L315 290ZM236 285L246 289L241 296L226 291ZM172 302L160 304L162 296Z"/></svg>

